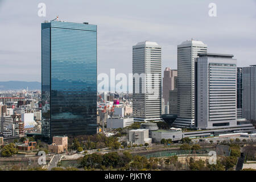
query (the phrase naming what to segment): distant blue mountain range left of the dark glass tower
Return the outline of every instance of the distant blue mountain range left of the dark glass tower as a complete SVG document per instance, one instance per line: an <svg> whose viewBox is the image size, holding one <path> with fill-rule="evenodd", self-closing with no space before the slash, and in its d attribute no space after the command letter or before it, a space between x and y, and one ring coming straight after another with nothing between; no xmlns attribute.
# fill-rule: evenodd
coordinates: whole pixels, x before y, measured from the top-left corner
<svg viewBox="0 0 256 182"><path fill-rule="evenodd" d="M0 81L0 90L41 90L41 83L38 81Z"/></svg>

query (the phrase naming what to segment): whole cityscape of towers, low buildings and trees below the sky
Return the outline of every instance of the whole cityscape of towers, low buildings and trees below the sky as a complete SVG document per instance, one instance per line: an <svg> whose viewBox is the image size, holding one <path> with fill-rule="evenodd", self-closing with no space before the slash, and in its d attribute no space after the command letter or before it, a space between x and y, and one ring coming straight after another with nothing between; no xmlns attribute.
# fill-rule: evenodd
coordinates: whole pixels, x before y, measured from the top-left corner
<svg viewBox="0 0 256 182"><path fill-rule="evenodd" d="M0 170L256 169L256 65L236 52L181 40L163 70L162 47L138 42L133 91L100 92L96 25L41 34L42 90L0 91Z"/></svg>

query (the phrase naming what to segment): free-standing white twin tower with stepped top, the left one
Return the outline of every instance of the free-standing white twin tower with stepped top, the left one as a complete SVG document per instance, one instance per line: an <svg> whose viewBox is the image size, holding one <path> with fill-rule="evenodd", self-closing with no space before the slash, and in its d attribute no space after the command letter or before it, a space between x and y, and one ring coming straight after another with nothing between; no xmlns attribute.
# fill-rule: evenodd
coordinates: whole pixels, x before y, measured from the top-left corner
<svg viewBox="0 0 256 182"><path fill-rule="evenodd" d="M134 121L162 121L161 46L139 42L133 46L133 117Z"/></svg>

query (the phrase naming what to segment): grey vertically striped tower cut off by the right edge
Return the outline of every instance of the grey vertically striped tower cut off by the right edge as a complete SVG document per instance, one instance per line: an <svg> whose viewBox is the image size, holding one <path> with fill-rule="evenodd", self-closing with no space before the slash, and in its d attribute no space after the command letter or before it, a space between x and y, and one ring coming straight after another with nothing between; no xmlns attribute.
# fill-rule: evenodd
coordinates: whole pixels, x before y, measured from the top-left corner
<svg viewBox="0 0 256 182"><path fill-rule="evenodd" d="M243 118L256 121L256 65L243 67Z"/></svg>

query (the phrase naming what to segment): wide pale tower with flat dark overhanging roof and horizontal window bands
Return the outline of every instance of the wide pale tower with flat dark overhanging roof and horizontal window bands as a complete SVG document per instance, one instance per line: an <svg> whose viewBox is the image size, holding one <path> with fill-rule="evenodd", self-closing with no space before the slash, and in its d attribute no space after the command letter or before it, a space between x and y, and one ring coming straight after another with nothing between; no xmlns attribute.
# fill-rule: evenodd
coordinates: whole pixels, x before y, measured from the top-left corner
<svg viewBox="0 0 256 182"><path fill-rule="evenodd" d="M237 125L237 60L200 53L197 58L197 127Z"/></svg>

